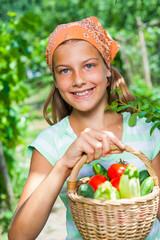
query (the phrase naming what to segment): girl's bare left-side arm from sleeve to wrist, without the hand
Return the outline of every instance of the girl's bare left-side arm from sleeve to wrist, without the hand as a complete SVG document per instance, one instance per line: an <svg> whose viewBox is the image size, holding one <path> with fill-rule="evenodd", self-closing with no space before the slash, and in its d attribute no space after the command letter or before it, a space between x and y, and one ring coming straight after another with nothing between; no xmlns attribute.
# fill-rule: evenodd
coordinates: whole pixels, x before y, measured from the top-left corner
<svg viewBox="0 0 160 240"><path fill-rule="evenodd" d="M60 162L53 168L34 150L29 176L9 229L9 240L33 240L38 236L67 177L68 172L62 171Z"/></svg>

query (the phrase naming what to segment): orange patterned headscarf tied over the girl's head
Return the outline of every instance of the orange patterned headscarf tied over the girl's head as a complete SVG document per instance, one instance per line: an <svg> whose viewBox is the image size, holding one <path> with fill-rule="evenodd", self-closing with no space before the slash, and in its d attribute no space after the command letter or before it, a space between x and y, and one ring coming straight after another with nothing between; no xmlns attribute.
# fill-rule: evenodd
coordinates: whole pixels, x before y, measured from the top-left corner
<svg viewBox="0 0 160 240"><path fill-rule="evenodd" d="M55 49L62 42L70 39L80 39L91 43L101 53L109 69L110 62L119 50L119 43L110 37L96 17L58 25L49 36L46 49L46 61L52 73Z"/></svg>

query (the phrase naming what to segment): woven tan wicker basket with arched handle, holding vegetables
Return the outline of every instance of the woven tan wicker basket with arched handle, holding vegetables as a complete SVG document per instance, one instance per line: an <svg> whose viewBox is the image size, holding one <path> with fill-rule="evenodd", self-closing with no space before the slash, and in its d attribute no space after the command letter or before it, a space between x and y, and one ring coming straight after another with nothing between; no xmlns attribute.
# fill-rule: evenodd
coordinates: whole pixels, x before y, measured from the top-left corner
<svg viewBox="0 0 160 240"><path fill-rule="evenodd" d="M112 145L111 152L115 150L120 149ZM125 151L138 156L144 162L154 179L153 191L143 197L114 201L78 196L78 186L89 180L89 177L85 177L76 181L79 170L87 160L87 156L83 155L71 172L67 188L73 219L85 240L145 239L156 219L159 203L158 177L144 154L128 145Z"/></svg>

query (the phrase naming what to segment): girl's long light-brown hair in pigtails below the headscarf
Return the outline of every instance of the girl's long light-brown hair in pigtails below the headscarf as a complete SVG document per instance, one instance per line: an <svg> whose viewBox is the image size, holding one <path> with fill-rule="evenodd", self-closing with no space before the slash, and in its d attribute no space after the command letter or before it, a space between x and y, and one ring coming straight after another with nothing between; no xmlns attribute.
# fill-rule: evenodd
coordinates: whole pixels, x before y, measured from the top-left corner
<svg viewBox="0 0 160 240"><path fill-rule="evenodd" d="M120 99L124 103L128 103L130 101L134 101L135 97L133 94L129 91L124 78L122 75L119 73L119 71L111 66L111 77L108 78L109 81L109 86L107 87L107 94L108 94L108 104L110 105L113 101ZM120 88L122 91L122 94L119 95L117 92L113 92L112 94L110 93L112 90L115 88ZM51 102L51 108L52 108L52 121L50 120L48 114L47 114L47 109L49 107L49 104ZM128 111L132 112L132 109L128 108L123 111ZM120 111L120 112L123 112ZM55 83L53 83L52 89L46 99L46 102L44 104L43 108L43 114L46 119L46 121L50 124L53 125L63 119L64 117L70 115L72 112L72 107L64 101L64 99L61 97L58 89L55 86Z"/></svg>

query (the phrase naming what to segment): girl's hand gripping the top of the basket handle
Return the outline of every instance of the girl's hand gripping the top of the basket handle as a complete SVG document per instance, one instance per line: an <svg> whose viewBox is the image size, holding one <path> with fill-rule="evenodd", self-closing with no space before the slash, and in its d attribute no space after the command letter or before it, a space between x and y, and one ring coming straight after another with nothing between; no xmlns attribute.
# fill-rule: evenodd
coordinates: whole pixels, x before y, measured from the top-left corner
<svg viewBox="0 0 160 240"><path fill-rule="evenodd" d="M71 144L66 153L60 159L61 163L72 169L83 153L87 154L87 163L105 157L111 152L111 143L117 145L122 151L125 145L112 132L99 131L86 128ZM121 153L117 151L116 153Z"/></svg>

